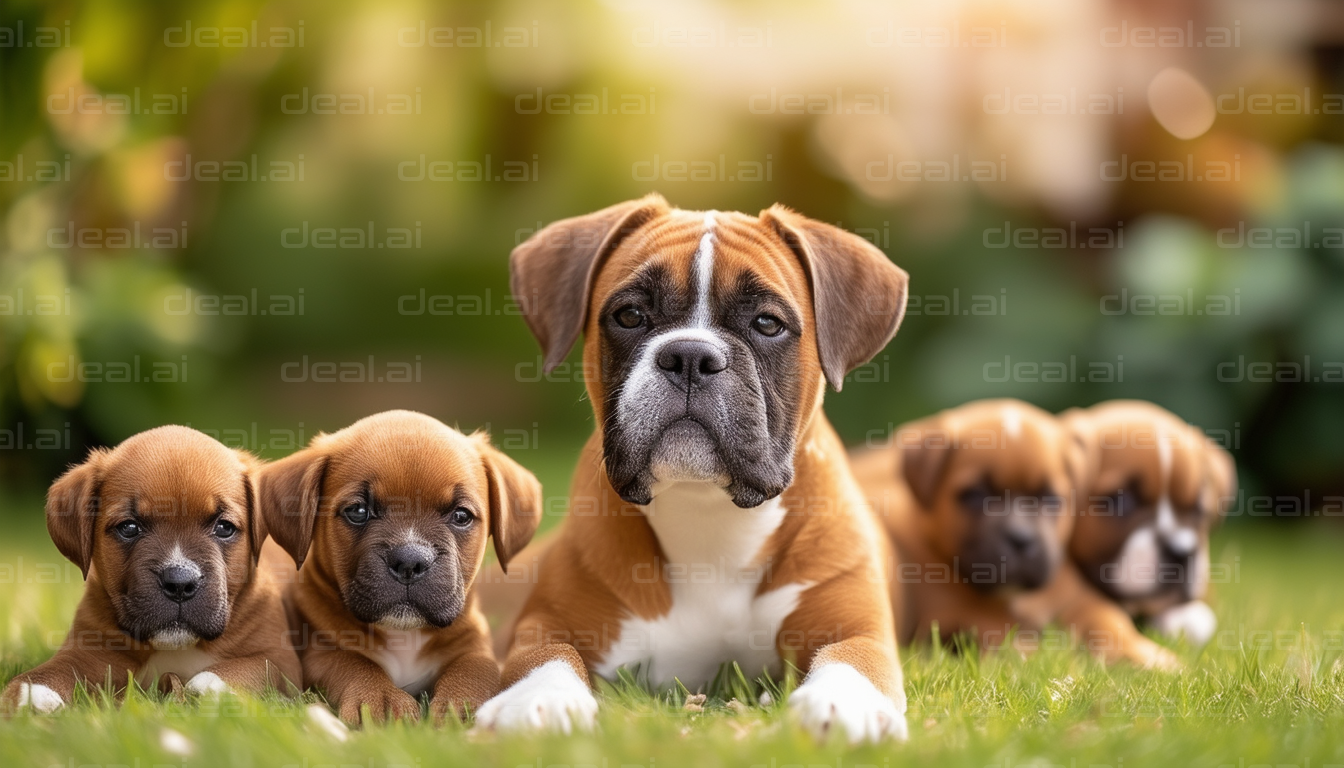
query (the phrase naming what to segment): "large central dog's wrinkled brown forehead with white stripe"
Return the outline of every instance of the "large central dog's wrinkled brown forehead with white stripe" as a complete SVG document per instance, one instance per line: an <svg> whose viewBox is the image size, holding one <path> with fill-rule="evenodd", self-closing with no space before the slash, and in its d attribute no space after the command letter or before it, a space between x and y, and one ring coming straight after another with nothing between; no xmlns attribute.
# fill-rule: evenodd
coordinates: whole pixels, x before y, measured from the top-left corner
<svg viewBox="0 0 1344 768"><path fill-rule="evenodd" d="M614 293L653 286L660 308L710 327L735 295L773 295L798 320L810 315L808 277L788 246L759 219L731 211L673 210L626 238L598 273L589 316Z"/></svg>

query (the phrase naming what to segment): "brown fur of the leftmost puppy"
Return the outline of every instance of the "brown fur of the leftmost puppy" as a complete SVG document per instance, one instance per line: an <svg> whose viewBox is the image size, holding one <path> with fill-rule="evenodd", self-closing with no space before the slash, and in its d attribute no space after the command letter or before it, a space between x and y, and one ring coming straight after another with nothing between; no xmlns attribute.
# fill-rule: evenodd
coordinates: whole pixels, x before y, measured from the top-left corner
<svg viewBox="0 0 1344 768"><path fill-rule="evenodd" d="M141 685L167 686L168 671L157 671L173 664L163 660L167 656L155 660L163 651L120 625L136 617L124 615L126 608L118 612L114 601L125 601L128 584L148 578L146 569L175 545L222 558L230 611L223 633L195 646L212 659L208 666L173 674L211 671L234 690L292 693L301 674L298 658L285 646L280 582L293 569L278 547L263 546L266 527L253 484L258 465L251 455L200 432L161 426L114 449L97 449L62 475L47 495L47 527L60 553L85 573L85 593L65 644L8 685L4 709L13 710L22 683L47 686L67 705L81 682L120 693L130 674ZM238 529L226 543L208 538L216 515ZM114 538L114 526L132 519L149 531L133 547Z"/></svg>

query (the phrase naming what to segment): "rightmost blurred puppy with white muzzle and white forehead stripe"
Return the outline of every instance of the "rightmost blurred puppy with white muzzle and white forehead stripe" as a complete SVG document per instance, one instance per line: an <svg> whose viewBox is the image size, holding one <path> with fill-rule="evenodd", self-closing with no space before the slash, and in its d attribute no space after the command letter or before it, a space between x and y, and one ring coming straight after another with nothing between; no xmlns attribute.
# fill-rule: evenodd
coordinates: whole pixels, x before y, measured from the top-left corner
<svg viewBox="0 0 1344 768"><path fill-rule="evenodd" d="M1218 628L1204 603L1208 533L1236 494L1232 457L1149 402L1110 401L1062 420L1091 464L1074 562L1136 619L1203 646Z"/></svg>

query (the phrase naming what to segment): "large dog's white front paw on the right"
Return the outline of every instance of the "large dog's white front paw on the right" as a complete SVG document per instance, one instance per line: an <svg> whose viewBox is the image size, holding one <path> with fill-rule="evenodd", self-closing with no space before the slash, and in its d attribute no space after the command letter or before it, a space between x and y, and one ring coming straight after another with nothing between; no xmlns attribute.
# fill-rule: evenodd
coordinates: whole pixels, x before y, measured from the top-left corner
<svg viewBox="0 0 1344 768"><path fill-rule="evenodd" d="M905 702L899 706L849 664L813 668L789 697L789 709L818 740L843 728L849 744L910 737Z"/></svg>

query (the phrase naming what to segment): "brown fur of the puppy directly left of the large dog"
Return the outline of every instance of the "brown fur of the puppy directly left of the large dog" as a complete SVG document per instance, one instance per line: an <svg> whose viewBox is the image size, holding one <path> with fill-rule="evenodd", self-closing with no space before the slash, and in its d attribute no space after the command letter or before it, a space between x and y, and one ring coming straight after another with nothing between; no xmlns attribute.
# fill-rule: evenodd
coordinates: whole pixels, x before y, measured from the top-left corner
<svg viewBox="0 0 1344 768"><path fill-rule="evenodd" d="M300 578L286 593L290 620L301 638L304 682L325 691L340 717L360 721L418 718L419 703L398 687L380 659L405 650L406 638L352 615L344 596L352 588L355 557L364 546L339 511L362 487L388 503L387 522L398 530L445 527L444 510L465 506L477 515L456 538L456 573L465 603L446 627L413 629L423 644L415 663L431 670L430 714L462 716L492 694L499 666L489 628L476 607L472 581L493 537L501 562L532 537L540 514L540 486L482 436L466 437L410 412L364 418L274 464L261 476L262 507L276 539L296 562Z"/></svg>

